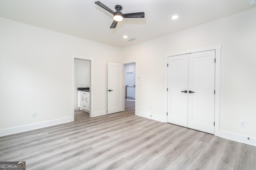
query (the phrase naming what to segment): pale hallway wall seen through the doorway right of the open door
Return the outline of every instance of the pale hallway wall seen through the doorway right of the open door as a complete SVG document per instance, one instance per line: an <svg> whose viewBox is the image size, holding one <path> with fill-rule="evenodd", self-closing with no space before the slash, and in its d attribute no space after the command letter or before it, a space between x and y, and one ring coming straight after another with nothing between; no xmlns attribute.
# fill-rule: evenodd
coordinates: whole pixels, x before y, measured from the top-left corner
<svg viewBox="0 0 256 170"><path fill-rule="evenodd" d="M124 64L124 71L125 71L125 75L124 75L124 80L125 80L125 85L127 86L127 72L133 72L133 85L135 85L135 73L136 73L136 70L135 70L135 63L128 63L128 64ZM132 97L132 98L135 98L135 88L131 88L131 87L128 87L127 88L127 96L128 97Z"/></svg>

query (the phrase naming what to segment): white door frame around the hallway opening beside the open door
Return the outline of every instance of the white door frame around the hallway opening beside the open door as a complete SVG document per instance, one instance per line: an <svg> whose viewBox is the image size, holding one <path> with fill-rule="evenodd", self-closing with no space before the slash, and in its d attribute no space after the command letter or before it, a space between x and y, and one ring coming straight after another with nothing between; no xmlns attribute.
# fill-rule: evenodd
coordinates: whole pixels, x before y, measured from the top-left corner
<svg viewBox="0 0 256 170"><path fill-rule="evenodd" d="M137 60L132 60L132 61L125 61L123 62L123 64L130 64L130 63L135 63L135 115L138 115L138 107L137 107L137 103L138 103L138 81L137 81L137 77L138 77L138 61ZM125 67L124 67L124 74L125 74ZM125 76L125 75L124 75ZM125 79L124 79L124 96L125 96ZM124 110L125 110L125 99L124 99Z"/></svg>

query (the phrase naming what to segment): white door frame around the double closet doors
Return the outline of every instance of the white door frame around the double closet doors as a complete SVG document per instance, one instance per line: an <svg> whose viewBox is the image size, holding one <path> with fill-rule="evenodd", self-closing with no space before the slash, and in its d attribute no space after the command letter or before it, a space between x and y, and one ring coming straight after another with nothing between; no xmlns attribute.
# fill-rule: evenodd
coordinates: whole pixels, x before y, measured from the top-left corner
<svg viewBox="0 0 256 170"><path fill-rule="evenodd" d="M214 106L214 135L220 136L220 55L221 55L221 48L222 45L210 46L210 47L202 47L199 49L191 49L188 51L178 52L178 53L171 53L164 55L164 114L168 112L167 110L167 87L168 87L168 57L172 57L175 55L183 55L189 53L198 53L203 51L210 51L215 50L215 106ZM167 115L166 115L166 123L167 123Z"/></svg>

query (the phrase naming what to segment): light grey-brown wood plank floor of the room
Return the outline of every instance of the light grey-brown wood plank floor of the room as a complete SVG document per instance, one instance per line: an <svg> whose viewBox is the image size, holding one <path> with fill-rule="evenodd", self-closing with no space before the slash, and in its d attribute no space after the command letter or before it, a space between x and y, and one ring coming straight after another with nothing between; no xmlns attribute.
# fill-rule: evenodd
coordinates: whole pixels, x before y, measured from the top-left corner
<svg viewBox="0 0 256 170"><path fill-rule="evenodd" d="M126 111L0 137L0 161L27 169L255 170L255 147Z"/></svg>

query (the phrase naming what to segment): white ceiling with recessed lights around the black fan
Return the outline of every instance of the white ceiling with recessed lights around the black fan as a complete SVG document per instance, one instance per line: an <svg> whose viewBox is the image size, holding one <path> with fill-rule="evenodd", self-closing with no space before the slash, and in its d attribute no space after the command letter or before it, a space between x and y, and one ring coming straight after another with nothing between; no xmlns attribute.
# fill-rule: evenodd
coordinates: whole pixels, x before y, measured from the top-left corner
<svg viewBox="0 0 256 170"><path fill-rule="evenodd" d="M251 9L249 0L100 0L113 11L122 5L123 14L145 12L110 29L112 15L95 1L0 0L0 17L122 48Z"/></svg>

